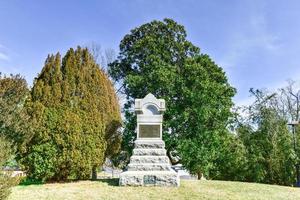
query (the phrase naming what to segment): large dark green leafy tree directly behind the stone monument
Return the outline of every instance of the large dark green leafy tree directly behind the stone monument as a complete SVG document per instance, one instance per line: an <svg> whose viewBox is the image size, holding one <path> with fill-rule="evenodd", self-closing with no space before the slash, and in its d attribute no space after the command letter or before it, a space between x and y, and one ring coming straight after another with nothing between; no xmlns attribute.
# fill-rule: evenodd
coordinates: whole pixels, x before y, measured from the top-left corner
<svg viewBox="0 0 300 200"><path fill-rule="evenodd" d="M109 73L127 97L123 149L130 152L136 136L134 99L151 92L166 100L163 137L169 157L179 155L200 177L218 157L235 89L222 68L186 36L184 27L171 19L141 25L121 41Z"/></svg>

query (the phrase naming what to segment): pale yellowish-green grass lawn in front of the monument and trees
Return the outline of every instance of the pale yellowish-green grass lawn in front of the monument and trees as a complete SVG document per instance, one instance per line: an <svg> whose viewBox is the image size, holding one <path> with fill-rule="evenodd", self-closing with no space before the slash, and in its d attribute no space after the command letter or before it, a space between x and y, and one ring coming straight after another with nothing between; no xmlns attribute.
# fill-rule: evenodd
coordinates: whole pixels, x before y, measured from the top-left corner
<svg viewBox="0 0 300 200"><path fill-rule="evenodd" d="M179 188L119 187L117 179L16 186L10 200L31 199L300 199L300 188L229 181L182 180Z"/></svg>

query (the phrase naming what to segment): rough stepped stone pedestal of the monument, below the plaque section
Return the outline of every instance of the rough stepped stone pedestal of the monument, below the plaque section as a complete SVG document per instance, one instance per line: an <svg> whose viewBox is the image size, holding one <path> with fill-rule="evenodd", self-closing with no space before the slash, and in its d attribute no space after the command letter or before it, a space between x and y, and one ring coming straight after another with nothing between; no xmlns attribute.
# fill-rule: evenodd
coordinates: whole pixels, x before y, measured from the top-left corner
<svg viewBox="0 0 300 200"><path fill-rule="evenodd" d="M179 177L160 139L136 140L128 171L120 174L122 186L179 186Z"/></svg>

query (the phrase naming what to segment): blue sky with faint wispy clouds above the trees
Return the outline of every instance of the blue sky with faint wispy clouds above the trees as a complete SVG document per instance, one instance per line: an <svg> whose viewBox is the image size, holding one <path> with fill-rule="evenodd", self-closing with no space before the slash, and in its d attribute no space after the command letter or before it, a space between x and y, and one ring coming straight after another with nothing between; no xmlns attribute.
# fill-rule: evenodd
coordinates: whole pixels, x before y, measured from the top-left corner
<svg viewBox="0 0 300 200"><path fill-rule="evenodd" d="M251 87L300 79L297 0L1 0L0 71L32 85L47 54L92 42L118 51L131 29L166 17L224 68L237 104L249 101Z"/></svg>

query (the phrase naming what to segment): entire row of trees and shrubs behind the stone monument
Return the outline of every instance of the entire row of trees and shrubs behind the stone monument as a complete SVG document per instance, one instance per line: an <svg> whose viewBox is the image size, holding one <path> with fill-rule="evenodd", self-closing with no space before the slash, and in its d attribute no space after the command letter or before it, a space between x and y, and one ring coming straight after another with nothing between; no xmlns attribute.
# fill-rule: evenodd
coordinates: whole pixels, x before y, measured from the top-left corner
<svg viewBox="0 0 300 200"><path fill-rule="evenodd" d="M122 133L108 75L125 97ZM171 19L125 35L108 75L78 47L63 58L49 55L32 88L20 76L0 77L0 144L14 147L29 179L96 178L105 158L125 167L136 138L134 99L151 92L166 100L163 139L172 164L198 178L295 183L300 150L287 122L299 120L300 92L292 83L274 93L252 89L254 102L235 109L223 69Z"/></svg>

